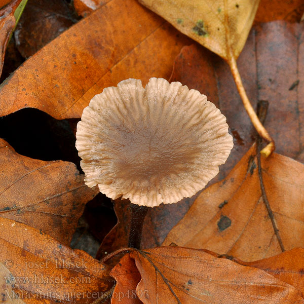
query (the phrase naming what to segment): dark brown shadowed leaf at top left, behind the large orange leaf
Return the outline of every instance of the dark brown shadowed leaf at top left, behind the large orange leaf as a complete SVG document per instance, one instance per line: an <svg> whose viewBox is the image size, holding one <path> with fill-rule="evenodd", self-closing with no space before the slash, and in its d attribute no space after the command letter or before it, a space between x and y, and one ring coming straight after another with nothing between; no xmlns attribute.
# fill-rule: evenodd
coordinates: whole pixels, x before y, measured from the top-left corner
<svg viewBox="0 0 304 304"><path fill-rule="evenodd" d="M68 4L61 0L31 0L16 26L16 47L25 58L32 56L77 22Z"/></svg>

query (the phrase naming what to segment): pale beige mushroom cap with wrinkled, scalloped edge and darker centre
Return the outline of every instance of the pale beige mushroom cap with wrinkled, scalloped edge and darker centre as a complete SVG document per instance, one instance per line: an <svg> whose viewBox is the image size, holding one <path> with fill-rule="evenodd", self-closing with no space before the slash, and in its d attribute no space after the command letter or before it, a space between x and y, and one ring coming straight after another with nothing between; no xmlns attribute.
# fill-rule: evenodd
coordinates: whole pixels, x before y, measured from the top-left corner
<svg viewBox="0 0 304 304"><path fill-rule="evenodd" d="M162 78L145 89L135 79L104 89L76 137L88 186L150 207L196 194L233 147L226 118L205 95Z"/></svg>

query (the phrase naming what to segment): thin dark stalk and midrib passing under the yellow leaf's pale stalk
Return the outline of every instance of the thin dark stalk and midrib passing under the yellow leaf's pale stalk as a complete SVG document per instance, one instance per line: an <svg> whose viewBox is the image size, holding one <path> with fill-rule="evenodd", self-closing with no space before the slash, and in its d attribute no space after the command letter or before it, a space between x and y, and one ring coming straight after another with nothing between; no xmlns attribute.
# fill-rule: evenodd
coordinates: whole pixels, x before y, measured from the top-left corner
<svg viewBox="0 0 304 304"><path fill-rule="evenodd" d="M268 110L268 101L264 101L264 100L259 101L258 105L257 105L257 113L258 113L259 120L261 121L262 124L265 121L265 118L266 118L266 115L267 115L267 110ZM275 220L274 213L273 213L273 211L270 207L270 204L269 204L269 201L268 201L268 198L267 198L267 194L266 194L266 191L265 191L264 183L263 183L261 156L259 154L259 151L261 149L261 143L262 143L262 139L259 136L259 134L257 134L257 137L256 137L256 158L257 158L258 177L259 177L259 181L260 181L262 198L263 198L263 202L264 202L264 204L267 208L268 215L271 219L272 225L274 227L275 235L276 235L277 240L279 242L281 251L283 252L283 251L285 251L285 248L284 248L284 245L283 245L280 233L279 233L279 229L278 229L278 226L277 226L277 223L276 223L276 220Z"/></svg>

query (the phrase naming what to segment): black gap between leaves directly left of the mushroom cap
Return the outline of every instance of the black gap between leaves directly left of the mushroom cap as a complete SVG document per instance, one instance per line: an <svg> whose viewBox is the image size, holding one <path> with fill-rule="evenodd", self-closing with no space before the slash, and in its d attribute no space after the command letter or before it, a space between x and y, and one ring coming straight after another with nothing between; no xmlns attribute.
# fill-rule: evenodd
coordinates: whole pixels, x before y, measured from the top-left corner
<svg viewBox="0 0 304 304"><path fill-rule="evenodd" d="M18 154L43 161L72 162L81 171L75 135L68 120L56 120L34 108L21 109L0 118L0 138L8 141Z"/></svg>

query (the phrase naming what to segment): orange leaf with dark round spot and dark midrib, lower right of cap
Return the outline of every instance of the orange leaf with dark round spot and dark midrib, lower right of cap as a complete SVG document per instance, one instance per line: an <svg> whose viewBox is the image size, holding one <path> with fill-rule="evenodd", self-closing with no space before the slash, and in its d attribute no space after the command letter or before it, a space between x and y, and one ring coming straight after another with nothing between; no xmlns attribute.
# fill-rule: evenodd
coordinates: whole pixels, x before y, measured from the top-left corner
<svg viewBox="0 0 304 304"><path fill-rule="evenodd" d="M304 165L274 154L262 159L262 176L286 250L304 247ZM281 252L261 198L255 148L221 182L196 199L163 245L204 248L245 261Z"/></svg>

